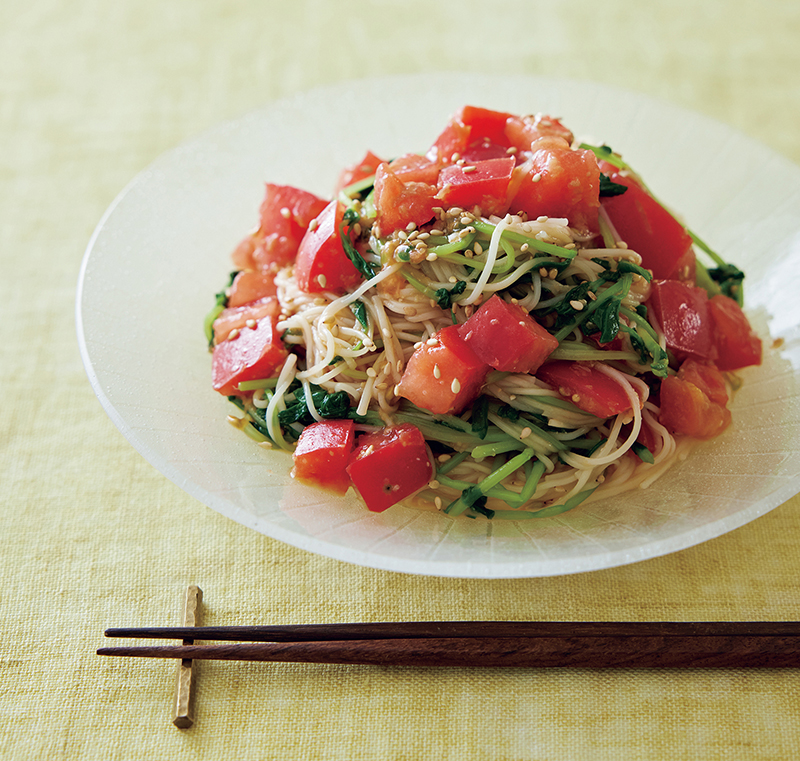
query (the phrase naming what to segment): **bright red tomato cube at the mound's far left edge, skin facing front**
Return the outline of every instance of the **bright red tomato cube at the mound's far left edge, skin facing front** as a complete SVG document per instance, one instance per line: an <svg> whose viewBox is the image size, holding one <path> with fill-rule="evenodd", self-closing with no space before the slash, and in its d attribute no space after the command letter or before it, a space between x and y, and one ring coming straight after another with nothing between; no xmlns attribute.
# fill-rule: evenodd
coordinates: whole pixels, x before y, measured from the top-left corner
<svg viewBox="0 0 800 761"><path fill-rule="evenodd" d="M220 394L236 395L239 383L275 375L288 355L276 326L277 318L266 315L254 328L244 327L214 346L211 377Z"/></svg>

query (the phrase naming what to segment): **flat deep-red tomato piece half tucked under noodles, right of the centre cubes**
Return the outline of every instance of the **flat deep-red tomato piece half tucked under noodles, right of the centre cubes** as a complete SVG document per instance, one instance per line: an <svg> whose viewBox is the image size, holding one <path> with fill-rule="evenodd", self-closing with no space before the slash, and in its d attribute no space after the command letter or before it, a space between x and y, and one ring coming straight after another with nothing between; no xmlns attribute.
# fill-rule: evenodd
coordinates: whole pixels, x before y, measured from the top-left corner
<svg viewBox="0 0 800 761"><path fill-rule="evenodd" d="M593 362L553 360L545 362L536 377L550 384L561 396L576 407L607 418L631 409L631 400L625 389Z"/></svg>

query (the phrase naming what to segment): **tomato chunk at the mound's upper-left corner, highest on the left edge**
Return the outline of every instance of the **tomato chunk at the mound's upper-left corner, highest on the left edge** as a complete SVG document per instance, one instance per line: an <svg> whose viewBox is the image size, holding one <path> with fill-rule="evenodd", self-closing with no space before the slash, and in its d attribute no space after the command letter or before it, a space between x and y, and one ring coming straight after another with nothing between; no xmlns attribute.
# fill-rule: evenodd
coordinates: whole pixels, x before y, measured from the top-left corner
<svg viewBox="0 0 800 761"><path fill-rule="evenodd" d="M261 227L252 254L261 269L290 264L308 225L328 202L290 185L267 184L261 203Z"/></svg>

